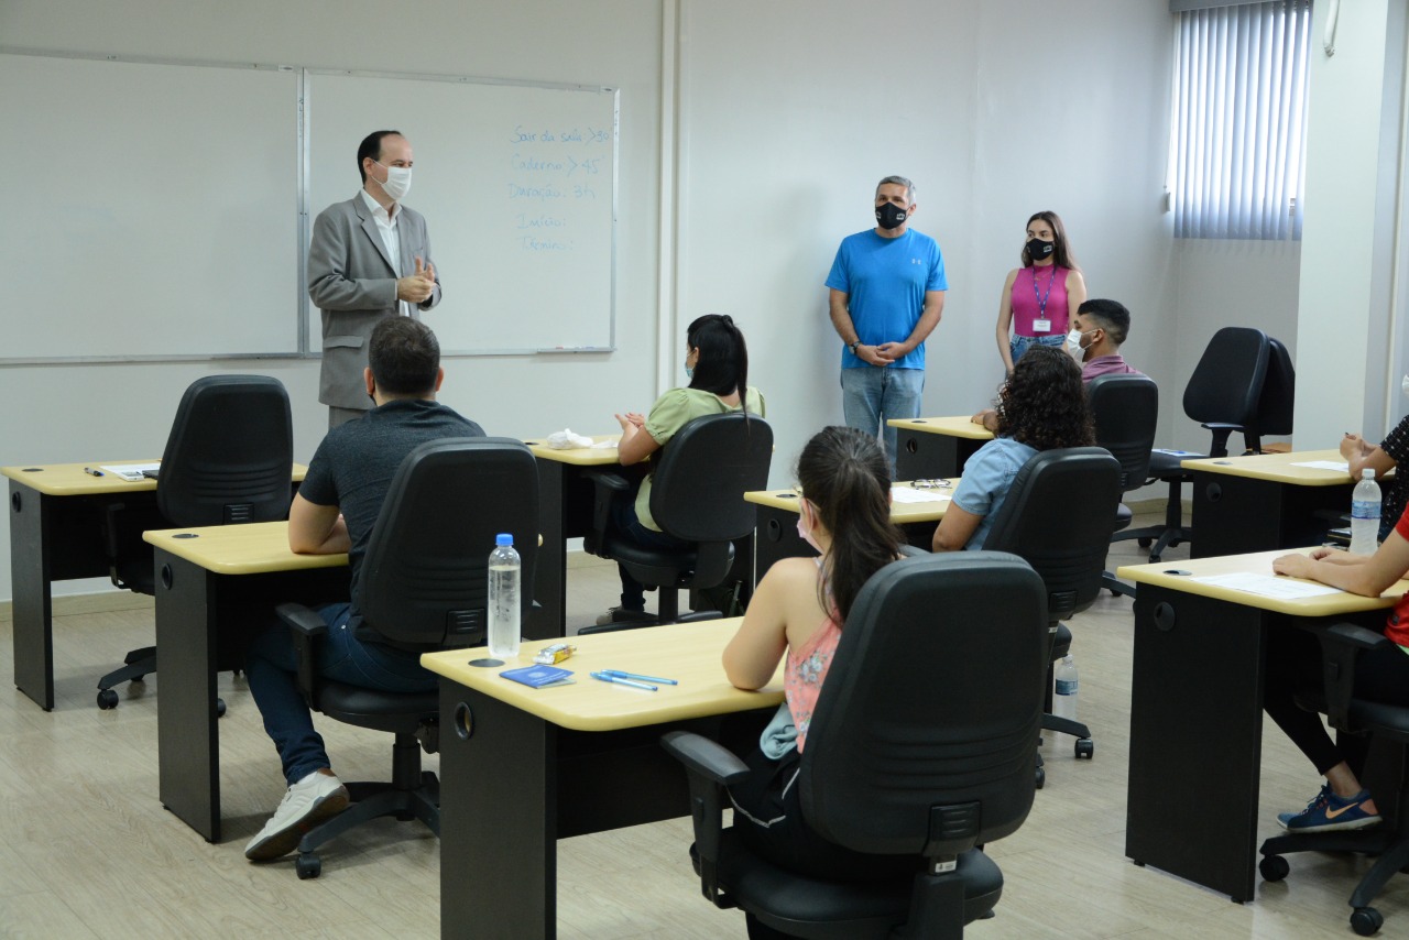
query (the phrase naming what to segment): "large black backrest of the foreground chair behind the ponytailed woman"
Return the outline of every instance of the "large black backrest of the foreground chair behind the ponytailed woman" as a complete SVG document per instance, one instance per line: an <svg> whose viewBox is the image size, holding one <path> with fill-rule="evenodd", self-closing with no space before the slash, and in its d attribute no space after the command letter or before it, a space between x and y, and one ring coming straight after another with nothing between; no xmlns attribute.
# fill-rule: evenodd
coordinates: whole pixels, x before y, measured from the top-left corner
<svg viewBox="0 0 1409 940"><path fill-rule="evenodd" d="M807 731L803 815L831 841L954 854L1027 817L1047 671L1022 558L903 558L857 595Z"/></svg>

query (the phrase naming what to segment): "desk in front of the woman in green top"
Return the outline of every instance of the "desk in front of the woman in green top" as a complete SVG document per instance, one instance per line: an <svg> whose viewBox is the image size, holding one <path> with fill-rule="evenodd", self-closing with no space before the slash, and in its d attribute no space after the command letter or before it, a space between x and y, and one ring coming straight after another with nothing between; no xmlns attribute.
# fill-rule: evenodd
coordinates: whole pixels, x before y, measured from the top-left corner
<svg viewBox="0 0 1409 940"><path fill-rule="evenodd" d="M593 441L617 441L620 434L600 434ZM620 461L616 447L582 447L555 451L544 438L526 440L538 464L538 571L534 600L540 610L524 621L524 637L547 640L566 633L568 540L581 538L592 528L592 481L583 475L590 466L614 466Z"/></svg>

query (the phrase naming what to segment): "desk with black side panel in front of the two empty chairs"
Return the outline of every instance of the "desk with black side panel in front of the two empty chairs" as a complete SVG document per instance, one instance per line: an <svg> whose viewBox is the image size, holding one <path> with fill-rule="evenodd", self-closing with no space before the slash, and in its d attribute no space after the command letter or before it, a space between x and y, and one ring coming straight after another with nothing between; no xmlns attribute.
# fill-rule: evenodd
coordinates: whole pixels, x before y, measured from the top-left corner
<svg viewBox="0 0 1409 940"><path fill-rule="evenodd" d="M1181 461L1193 475L1195 558L1319 544L1332 527L1317 512L1350 512L1350 474L1293 466L1344 462L1339 451L1293 451Z"/></svg>

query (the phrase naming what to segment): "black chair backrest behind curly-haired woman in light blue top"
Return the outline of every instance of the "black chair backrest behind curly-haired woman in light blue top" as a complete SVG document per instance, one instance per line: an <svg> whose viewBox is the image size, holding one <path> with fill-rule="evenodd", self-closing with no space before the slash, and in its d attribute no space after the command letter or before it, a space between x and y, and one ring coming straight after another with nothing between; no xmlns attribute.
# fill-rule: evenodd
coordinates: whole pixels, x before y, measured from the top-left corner
<svg viewBox="0 0 1409 940"><path fill-rule="evenodd" d="M983 541L1033 567L1055 623L1100 595L1120 506L1120 464L1099 447L1041 451L1017 471Z"/></svg>

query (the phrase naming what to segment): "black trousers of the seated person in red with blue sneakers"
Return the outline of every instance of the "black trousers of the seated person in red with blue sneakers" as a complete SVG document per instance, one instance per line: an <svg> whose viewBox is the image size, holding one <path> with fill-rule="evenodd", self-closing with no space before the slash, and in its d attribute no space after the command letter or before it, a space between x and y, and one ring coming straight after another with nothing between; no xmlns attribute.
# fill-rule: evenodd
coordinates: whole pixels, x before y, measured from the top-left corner
<svg viewBox="0 0 1409 940"><path fill-rule="evenodd" d="M1320 641L1306 630L1272 630L1267 650L1267 685L1262 707L1277 727L1292 738L1316 772L1341 761L1360 777L1365 768L1370 740L1365 736L1341 734L1333 741L1322 716L1296 706L1296 693L1322 689ZM1409 706L1409 654L1396 645L1363 653L1355 661L1355 696L1385 705Z"/></svg>

